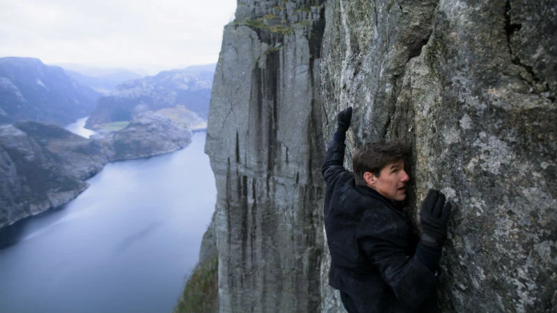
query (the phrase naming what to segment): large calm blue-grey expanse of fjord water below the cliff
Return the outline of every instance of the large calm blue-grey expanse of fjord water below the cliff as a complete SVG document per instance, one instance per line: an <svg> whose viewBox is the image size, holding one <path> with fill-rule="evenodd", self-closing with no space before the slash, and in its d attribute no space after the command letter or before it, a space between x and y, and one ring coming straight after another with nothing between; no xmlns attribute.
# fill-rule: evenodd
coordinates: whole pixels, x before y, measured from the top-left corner
<svg viewBox="0 0 557 313"><path fill-rule="evenodd" d="M171 312L214 211L204 144L109 163L62 209L0 230L17 240L0 250L0 312Z"/></svg>

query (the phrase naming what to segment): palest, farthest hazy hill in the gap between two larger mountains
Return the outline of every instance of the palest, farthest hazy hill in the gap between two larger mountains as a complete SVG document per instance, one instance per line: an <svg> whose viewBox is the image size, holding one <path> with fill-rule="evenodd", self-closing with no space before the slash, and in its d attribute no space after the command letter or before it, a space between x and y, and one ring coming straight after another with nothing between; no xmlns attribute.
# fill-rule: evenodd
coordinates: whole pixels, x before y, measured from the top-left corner
<svg viewBox="0 0 557 313"><path fill-rule="evenodd" d="M89 86L102 95L110 95L111 90L116 88L124 81L140 79L143 75L125 69L97 70L95 72L81 72L79 70L68 70L64 68L66 74L79 83ZM91 72L91 74L88 74Z"/></svg>

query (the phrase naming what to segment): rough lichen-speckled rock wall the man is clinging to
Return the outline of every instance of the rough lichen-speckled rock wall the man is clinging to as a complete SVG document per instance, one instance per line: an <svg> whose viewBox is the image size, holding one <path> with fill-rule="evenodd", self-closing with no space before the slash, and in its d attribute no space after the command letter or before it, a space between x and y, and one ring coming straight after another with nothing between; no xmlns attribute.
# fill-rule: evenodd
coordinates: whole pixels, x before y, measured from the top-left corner
<svg viewBox="0 0 557 313"><path fill-rule="evenodd" d="M455 204L443 312L557 310L557 1L327 1L324 133L411 145L410 209ZM347 164L351 161L350 153Z"/></svg>

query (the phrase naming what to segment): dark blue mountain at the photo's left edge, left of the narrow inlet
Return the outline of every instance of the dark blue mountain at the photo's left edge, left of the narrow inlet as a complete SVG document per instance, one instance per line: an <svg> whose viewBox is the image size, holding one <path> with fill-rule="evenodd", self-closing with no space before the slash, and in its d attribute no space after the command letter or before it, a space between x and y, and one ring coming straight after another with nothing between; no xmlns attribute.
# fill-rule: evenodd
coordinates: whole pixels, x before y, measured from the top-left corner
<svg viewBox="0 0 557 313"><path fill-rule="evenodd" d="M101 94L37 58L0 58L0 123L67 125L87 116Z"/></svg>

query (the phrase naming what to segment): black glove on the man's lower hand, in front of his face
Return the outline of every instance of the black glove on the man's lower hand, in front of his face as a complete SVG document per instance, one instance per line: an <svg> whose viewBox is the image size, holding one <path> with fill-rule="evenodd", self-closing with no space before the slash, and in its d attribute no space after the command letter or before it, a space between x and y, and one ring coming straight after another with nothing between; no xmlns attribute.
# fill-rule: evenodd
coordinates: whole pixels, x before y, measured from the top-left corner
<svg viewBox="0 0 557 313"><path fill-rule="evenodd" d="M438 190L430 189L422 202L420 221L423 235L421 243L427 248L441 250L447 238L447 222L451 210L450 202L445 204L445 195Z"/></svg>

